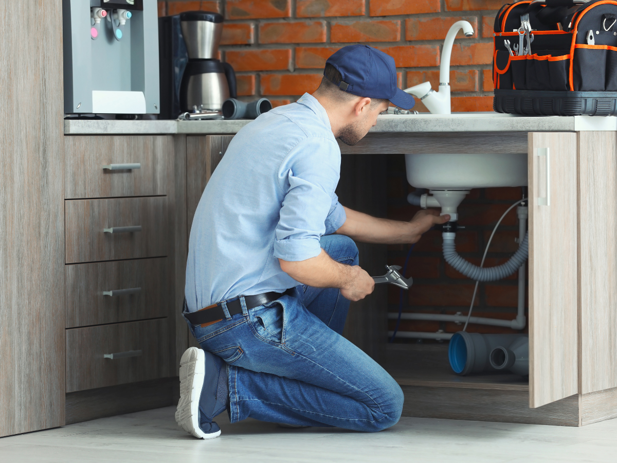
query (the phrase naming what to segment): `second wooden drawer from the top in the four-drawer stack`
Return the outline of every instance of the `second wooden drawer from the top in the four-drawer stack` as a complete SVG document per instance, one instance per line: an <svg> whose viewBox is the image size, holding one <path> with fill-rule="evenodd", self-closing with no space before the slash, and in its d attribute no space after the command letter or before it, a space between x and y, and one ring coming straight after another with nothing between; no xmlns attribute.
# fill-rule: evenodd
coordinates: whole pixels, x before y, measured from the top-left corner
<svg viewBox="0 0 617 463"><path fill-rule="evenodd" d="M167 256L167 196L74 199L64 212L67 264ZM141 231L118 230L136 226Z"/></svg>

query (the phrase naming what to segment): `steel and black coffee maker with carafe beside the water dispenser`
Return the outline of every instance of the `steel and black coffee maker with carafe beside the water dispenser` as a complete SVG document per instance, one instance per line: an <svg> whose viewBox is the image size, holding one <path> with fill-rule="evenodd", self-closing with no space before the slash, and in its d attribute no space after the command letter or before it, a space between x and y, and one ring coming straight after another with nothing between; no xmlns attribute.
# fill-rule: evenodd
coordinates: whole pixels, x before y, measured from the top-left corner
<svg viewBox="0 0 617 463"><path fill-rule="evenodd" d="M223 16L184 12L180 25L189 56L180 88L181 109L220 111L226 99L236 98L236 74L230 64L217 59Z"/></svg>

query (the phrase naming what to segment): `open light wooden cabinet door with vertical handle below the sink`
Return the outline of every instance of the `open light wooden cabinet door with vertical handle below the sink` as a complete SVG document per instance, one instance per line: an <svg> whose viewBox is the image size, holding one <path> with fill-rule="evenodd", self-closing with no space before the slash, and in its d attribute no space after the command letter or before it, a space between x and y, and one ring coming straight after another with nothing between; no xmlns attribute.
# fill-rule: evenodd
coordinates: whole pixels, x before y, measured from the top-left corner
<svg viewBox="0 0 617 463"><path fill-rule="evenodd" d="M529 133L529 407L578 394L576 133Z"/></svg>

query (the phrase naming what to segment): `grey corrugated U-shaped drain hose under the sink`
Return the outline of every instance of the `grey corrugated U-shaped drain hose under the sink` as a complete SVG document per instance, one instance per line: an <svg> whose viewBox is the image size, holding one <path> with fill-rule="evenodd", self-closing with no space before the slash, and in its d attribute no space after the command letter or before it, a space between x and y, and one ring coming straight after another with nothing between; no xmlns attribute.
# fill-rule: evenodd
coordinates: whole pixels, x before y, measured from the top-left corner
<svg viewBox="0 0 617 463"><path fill-rule="evenodd" d="M529 254L529 233L525 233L523 243L508 262L497 265L497 267L478 267L478 265L473 265L458 255L454 244L455 236L456 233L443 233L444 259L458 272L463 273L465 277L476 280L476 282L494 282L509 277L523 265Z"/></svg>

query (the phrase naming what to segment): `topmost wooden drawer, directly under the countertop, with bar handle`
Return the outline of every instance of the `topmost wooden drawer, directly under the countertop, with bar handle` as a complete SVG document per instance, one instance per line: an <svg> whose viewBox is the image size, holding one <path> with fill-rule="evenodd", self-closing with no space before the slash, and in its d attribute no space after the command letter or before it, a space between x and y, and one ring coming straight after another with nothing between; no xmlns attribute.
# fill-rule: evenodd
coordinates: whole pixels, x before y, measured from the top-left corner
<svg viewBox="0 0 617 463"><path fill-rule="evenodd" d="M170 136L65 136L64 158L65 198L167 194L173 140ZM103 169L112 164L139 164L139 169Z"/></svg>

